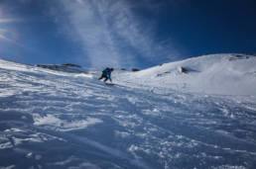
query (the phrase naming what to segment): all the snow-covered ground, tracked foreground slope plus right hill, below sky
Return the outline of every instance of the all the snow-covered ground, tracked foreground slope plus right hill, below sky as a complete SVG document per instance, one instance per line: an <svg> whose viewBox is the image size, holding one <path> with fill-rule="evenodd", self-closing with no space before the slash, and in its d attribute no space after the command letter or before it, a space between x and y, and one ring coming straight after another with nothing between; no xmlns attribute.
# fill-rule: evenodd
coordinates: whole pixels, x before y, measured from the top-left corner
<svg viewBox="0 0 256 169"><path fill-rule="evenodd" d="M100 73L0 59L0 169L256 167L256 56Z"/></svg>

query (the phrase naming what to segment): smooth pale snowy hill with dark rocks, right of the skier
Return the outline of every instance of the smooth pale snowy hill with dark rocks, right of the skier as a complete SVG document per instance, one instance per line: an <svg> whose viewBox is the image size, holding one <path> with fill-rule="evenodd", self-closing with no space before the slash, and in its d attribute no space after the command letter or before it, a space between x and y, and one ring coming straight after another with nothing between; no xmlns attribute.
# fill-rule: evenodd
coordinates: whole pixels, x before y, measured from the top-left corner
<svg viewBox="0 0 256 169"><path fill-rule="evenodd" d="M183 73L181 67L187 72ZM118 80L192 93L256 95L256 56L213 54L193 57L126 73Z"/></svg>

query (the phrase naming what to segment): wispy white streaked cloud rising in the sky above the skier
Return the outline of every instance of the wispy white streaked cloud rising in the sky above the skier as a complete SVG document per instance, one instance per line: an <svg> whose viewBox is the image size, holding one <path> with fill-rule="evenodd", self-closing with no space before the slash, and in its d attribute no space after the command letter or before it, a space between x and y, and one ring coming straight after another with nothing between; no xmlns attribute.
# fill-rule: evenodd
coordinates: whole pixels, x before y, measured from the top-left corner
<svg viewBox="0 0 256 169"><path fill-rule="evenodd" d="M82 43L92 66L138 65L178 55L172 41L158 42L154 22L132 12L126 0L63 0L70 35Z"/></svg>

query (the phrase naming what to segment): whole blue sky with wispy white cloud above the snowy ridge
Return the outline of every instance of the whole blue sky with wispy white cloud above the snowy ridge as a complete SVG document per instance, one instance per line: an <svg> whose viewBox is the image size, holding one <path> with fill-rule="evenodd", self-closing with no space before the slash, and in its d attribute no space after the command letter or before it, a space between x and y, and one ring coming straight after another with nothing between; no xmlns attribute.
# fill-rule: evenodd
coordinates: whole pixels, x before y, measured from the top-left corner
<svg viewBox="0 0 256 169"><path fill-rule="evenodd" d="M146 68L256 53L254 0L0 0L0 57Z"/></svg>

